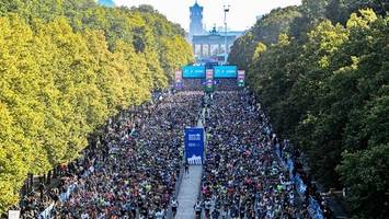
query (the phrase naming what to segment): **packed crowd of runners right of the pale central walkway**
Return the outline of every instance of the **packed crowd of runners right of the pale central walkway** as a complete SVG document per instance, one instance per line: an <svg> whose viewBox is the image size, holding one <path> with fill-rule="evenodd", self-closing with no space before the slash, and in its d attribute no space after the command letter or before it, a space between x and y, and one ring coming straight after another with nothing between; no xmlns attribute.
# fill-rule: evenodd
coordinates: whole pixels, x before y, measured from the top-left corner
<svg viewBox="0 0 389 219"><path fill-rule="evenodd" d="M254 96L221 90L209 97L207 111L202 185L205 215L307 218L307 208L298 208L294 183L275 153L278 139Z"/></svg>

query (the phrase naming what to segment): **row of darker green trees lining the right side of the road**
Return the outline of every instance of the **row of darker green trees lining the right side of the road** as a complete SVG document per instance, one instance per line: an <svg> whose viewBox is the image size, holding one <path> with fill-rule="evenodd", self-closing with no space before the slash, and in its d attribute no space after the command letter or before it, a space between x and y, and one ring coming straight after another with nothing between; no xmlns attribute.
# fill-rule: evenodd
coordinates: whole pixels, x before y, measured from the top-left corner
<svg viewBox="0 0 389 219"><path fill-rule="evenodd" d="M346 188L357 218L389 214L386 11L381 1L304 0L258 21L230 55L277 132L325 187Z"/></svg>

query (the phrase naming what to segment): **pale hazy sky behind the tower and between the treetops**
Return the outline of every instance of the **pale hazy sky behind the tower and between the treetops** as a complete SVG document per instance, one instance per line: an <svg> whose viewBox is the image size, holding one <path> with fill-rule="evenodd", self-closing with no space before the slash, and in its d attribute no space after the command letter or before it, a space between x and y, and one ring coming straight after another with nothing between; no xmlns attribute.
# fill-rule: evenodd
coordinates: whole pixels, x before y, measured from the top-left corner
<svg viewBox="0 0 389 219"><path fill-rule="evenodd" d="M180 23L186 31L190 27L190 7L195 0L114 0L116 5L151 4L170 21ZM300 4L301 0L198 0L204 7L204 24L207 30L224 25L222 5L230 4L227 22L230 30L244 31L255 23L256 16L272 9Z"/></svg>

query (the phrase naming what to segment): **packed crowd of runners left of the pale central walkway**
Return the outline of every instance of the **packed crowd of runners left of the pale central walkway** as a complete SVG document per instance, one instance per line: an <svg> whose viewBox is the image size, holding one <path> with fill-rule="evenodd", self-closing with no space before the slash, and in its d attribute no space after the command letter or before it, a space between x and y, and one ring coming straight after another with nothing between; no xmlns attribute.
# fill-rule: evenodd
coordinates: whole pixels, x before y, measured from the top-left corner
<svg viewBox="0 0 389 219"><path fill-rule="evenodd" d="M64 169L47 218L162 218L182 165L183 127L194 126L202 92L165 94L111 123L94 147ZM48 201L49 200L49 201ZM43 199L26 196L22 218L42 218Z"/></svg>

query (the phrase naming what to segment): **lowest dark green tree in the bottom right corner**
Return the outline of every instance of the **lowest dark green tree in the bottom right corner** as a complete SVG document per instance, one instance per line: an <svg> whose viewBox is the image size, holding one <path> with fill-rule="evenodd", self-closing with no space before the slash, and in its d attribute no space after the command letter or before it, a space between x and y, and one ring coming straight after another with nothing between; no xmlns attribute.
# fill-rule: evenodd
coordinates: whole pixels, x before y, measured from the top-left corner
<svg viewBox="0 0 389 219"><path fill-rule="evenodd" d="M371 146L367 150L343 154L337 166L347 186L347 199L361 218L385 218L388 215L389 145Z"/></svg>

